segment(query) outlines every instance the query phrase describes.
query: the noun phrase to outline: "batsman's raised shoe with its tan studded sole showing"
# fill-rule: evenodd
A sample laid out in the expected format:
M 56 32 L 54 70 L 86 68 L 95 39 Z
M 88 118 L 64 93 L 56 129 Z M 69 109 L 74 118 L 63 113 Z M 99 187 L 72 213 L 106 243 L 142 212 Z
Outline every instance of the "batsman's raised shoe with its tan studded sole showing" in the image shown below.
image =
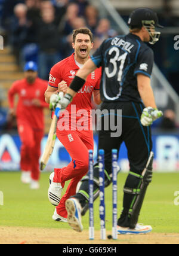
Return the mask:
M 78 199 L 70 198 L 65 202 L 67 211 L 67 222 L 77 232 L 82 232 L 83 226 L 81 223 L 81 205 Z

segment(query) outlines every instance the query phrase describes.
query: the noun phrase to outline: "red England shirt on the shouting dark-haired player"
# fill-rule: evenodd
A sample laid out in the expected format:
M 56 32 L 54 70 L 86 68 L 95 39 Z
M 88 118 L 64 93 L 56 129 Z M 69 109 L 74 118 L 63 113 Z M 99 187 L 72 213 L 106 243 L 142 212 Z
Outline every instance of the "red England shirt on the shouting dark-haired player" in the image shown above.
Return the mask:
M 48 85 L 58 89 L 58 84 L 61 81 L 66 81 L 67 86 L 70 86 L 73 78 L 79 70 L 79 66 L 75 63 L 74 58 L 75 53 L 67 57 L 64 60 L 61 60 L 53 66 L 50 71 L 50 78 Z M 72 103 L 67 106 L 66 110 L 69 111 L 69 120 L 71 124 L 76 124 L 76 121 L 81 118 L 80 111 L 85 109 L 88 113 L 88 118 L 90 117 L 91 111 L 91 97 L 93 90 L 100 90 L 100 81 L 101 81 L 101 68 L 95 69 L 87 77 L 87 81 L 82 87 L 81 90 L 73 97 Z M 84 114 L 84 113 L 83 113 Z M 63 115 L 63 114 L 62 114 Z M 79 115 L 79 116 L 78 116 Z M 61 115 L 60 115 L 61 117 Z

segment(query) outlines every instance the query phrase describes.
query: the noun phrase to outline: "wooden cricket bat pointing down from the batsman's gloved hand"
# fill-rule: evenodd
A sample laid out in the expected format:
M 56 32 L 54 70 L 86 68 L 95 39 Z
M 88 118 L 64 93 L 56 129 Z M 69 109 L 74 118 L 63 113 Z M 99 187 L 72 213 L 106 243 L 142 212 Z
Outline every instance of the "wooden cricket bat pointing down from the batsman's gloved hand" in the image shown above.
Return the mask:
M 61 110 L 61 105 L 58 103 L 57 107 L 55 108 L 53 120 L 51 121 L 51 126 L 48 133 L 48 138 L 47 138 L 47 144 L 45 145 L 44 153 L 42 154 L 42 157 L 41 157 L 41 161 L 40 161 L 41 170 L 45 169 L 45 166 L 47 165 L 48 160 L 50 159 L 50 156 L 54 150 L 55 139 L 57 137 L 57 132 L 56 132 L 57 122 L 60 116 L 60 110 Z

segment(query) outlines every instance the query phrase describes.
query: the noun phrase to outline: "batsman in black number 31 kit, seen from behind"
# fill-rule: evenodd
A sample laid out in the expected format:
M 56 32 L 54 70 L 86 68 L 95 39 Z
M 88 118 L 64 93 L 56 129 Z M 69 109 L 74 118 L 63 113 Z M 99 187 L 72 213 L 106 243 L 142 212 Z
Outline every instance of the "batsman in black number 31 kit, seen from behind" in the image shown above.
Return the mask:
M 152 139 L 150 124 L 162 116 L 156 108 L 150 76 L 153 68 L 153 51 L 145 44 L 155 44 L 160 32 L 156 32 L 158 17 L 148 8 L 134 10 L 128 21 L 128 35 L 106 39 L 76 74 L 70 89 L 60 103 L 63 108 L 85 83 L 87 75 L 102 66 L 101 110 L 122 109 L 122 134 L 111 136 L 112 130 L 99 132 L 98 149 L 104 150 L 105 184 L 112 181 L 112 149 L 119 149 L 125 142 L 128 150 L 129 175 L 124 185 L 124 202 L 118 220 L 118 233 L 149 233 L 152 227 L 139 225 L 138 217 L 147 186 L 152 181 Z M 101 117 L 104 119 L 104 117 Z M 109 118 L 110 120 L 110 118 Z M 115 123 L 116 120 L 115 120 Z M 109 126 L 110 127 L 110 126 Z M 98 164 L 94 166 L 94 199 L 99 194 Z M 81 215 L 88 209 L 88 176 L 82 179 L 78 193 L 66 201 L 67 221 L 75 230 L 82 231 Z M 77 228 L 76 228 L 77 227 Z

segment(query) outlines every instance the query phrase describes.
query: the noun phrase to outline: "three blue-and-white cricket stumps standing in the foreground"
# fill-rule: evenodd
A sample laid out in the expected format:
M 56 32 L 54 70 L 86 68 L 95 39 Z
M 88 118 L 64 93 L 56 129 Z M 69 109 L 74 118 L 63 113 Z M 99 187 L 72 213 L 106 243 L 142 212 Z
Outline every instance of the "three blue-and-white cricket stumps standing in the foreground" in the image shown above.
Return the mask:
M 104 150 L 98 151 L 99 160 L 99 187 L 100 187 L 100 225 L 101 225 L 101 240 L 106 240 L 106 224 L 105 224 L 105 197 L 104 197 Z M 113 206 L 112 206 L 112 238 L 118 239 L 117 230 L 117 194 L 118 194 L 118 150 L 112 150 L 112 194 L 113 194 Z M 89 238 L 94 239 L 94 199 L 93 199 L 93 151 L 89 151 L 89 213 L 90 213 L 90 227 Z

